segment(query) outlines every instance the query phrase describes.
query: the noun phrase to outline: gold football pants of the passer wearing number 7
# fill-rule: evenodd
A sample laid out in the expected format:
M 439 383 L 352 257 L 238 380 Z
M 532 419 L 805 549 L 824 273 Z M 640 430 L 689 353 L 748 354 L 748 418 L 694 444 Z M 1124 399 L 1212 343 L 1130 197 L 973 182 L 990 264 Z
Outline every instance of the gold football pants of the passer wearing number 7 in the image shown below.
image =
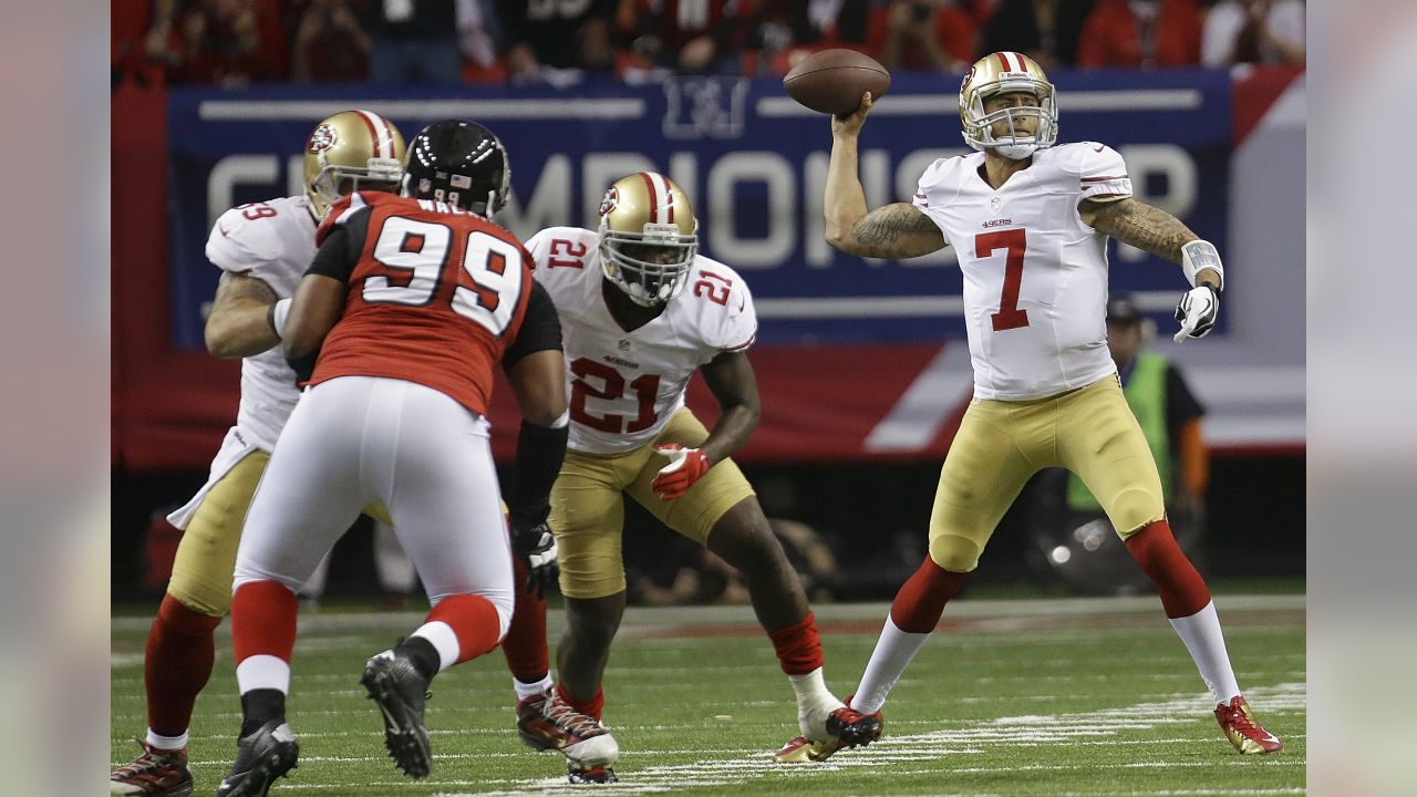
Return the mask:
M 1161 476 L 1115 376 L 1032 401 L 969 404 L 939 471 L 930 557 L 968 573 L 1024 482 L 1067 468 L 1122 539 L 1165 516 Z

